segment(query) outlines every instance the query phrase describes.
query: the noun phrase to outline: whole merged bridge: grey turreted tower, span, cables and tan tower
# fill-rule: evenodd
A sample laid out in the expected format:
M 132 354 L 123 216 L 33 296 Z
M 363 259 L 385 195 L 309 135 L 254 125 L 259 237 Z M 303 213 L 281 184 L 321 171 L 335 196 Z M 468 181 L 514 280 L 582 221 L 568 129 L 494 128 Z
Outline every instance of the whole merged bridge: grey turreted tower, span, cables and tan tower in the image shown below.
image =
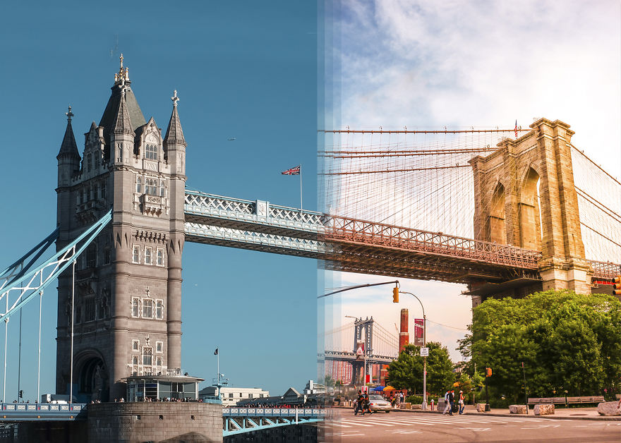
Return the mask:
M 562 121 L 538 119 L 495 145 L 490 134 L 502 130 L 482 141 L 464 139 L 476 131 L 444 131 L 443 140 L 455 137 L 444 144 L 404 138 L 428 131 L 362 131 L 359 143 L 356 131 L 332 131 L 340 141 L 320 152 L 322 207 L 330 210 L 315 212 L 186 188 L 192 150 L 176 92 L 171 100 L 164 132 L 145 119 L 121 65 L 81 154 L 67 112 L 56 157 L 56 249 L 75 246 L 109 210 L 111 222 L 58 279 L 58 393 L 73 384 L 83 399 L 107 400 L 124 396 L 124 377 L 181 368 L 186 241 L 315 258 L 325 269 L 454 281 L 469 285 L 474 304 L 541 289 L 600 291 L 621 273 L 621 184 L 571 144 Z M 386 135 L 401 138 L 364 138 Z M 3 290 L 7 309 L 22 305 Z M 325 358 L 353 359 L 349 353 L 327 349 Z M 384 363 L 392 354 L 370 357 Z

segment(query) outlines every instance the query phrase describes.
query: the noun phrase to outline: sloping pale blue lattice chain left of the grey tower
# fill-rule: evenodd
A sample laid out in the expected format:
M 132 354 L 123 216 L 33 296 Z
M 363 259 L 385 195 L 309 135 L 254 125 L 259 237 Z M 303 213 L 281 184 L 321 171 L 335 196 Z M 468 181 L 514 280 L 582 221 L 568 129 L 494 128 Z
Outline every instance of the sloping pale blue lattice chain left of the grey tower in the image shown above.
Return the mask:
M 0 280 L 0 320 L 7 322 L 11 315 L 35 298 L 37 293 L 42 293 L 56 277 L 59 277 L 61 272 L 71 265 L 71 262 L 76 260 L 78 255 L 83 253 L 111 219 L 112 212 L 109 211 L 76 240 L 35 267 L 37 259 L 56 240 L 58 236 L 58 230 L 56 230 L 20 260 L 5 269 L 0 275 L 2 279 Z

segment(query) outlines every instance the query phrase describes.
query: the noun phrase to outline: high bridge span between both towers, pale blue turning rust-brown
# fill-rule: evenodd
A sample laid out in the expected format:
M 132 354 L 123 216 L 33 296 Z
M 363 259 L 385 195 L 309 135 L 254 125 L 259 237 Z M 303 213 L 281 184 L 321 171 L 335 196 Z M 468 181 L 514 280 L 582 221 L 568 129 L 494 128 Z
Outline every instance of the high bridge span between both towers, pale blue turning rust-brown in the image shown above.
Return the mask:
M 324 260 L 325 269 L 423 280 L 540 280 L 536 250 L 186 190 L 186 241 Z M 593 280 L 621 265 L 590 261 Z

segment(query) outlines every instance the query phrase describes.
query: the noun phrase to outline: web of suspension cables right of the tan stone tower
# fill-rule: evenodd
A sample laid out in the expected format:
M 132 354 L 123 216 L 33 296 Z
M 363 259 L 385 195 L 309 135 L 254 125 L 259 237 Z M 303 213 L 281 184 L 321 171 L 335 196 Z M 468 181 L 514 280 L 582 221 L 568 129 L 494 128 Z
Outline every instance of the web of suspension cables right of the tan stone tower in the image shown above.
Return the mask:
M 572 147 L 584 253 L 589 260 L 621 263 L 621 183 Z

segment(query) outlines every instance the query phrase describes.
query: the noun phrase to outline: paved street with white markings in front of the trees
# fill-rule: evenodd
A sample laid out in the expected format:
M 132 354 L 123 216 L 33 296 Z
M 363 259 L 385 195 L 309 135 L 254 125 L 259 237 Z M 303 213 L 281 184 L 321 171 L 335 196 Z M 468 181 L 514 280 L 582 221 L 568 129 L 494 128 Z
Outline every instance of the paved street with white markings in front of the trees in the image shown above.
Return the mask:
M 333 411 L 322 442 L 621 442 L 620 421 Z

